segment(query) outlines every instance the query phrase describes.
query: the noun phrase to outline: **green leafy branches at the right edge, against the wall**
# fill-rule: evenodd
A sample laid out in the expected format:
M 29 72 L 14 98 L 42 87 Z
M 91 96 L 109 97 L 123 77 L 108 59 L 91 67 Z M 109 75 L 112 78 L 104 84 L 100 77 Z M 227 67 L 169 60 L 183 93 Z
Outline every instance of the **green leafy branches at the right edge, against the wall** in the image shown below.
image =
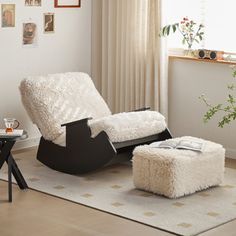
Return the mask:
M 234 78 L 236 78 L 236 67 L 233 66 L 232 69 L 233 69 L 232 75 Z M 212 105 L 207 101 L 205 95 L 201 95 L 199 97 L 209 108 L 203 118 L 205 123 L 211 120 L 211 118 L 219 112 L 223 113 L 223 117 L 218 122 L 218 127 L 223 128 L 226 124 L 229 124 L 231 121 L 236 119 L 236 95 L 233 94 L 233 92 L 235 92 L 236 89 L 236 84 L 230 84 L 228 85 L 227 88 L 229 91 L 229 95 L 226 99 L 226 104 Z

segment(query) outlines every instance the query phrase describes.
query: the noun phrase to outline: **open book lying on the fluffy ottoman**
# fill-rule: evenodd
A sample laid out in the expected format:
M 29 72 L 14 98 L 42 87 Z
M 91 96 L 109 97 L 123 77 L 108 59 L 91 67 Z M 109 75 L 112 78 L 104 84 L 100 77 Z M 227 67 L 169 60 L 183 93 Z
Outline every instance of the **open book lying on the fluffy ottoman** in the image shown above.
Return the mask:
M 163 142 L 152 143 L 150 144 L 150 146 L 154 148 L 186 149 L 186 150 L 202 152 L 203 143 L 188 139 L 182 139 L 180 141 L 169 139 Z

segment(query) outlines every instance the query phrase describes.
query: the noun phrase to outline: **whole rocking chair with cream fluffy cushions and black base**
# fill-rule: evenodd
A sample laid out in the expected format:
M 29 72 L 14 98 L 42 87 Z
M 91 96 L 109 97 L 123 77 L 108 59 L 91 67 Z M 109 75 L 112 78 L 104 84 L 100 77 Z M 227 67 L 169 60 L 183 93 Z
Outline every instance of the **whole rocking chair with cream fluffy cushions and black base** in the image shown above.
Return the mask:
M 85 73 L 28 77 L 24 107 L 39 128 L 37 159 L 70 174 L 130 159 L 135 146 L 171 138 L 165 118 L 146 108 L 112 115 Z

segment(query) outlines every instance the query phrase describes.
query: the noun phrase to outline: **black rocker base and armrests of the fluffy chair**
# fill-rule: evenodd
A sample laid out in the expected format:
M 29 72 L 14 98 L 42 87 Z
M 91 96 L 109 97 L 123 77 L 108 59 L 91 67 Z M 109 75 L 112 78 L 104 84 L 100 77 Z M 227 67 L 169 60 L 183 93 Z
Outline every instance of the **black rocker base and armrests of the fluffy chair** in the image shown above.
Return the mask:
M 91 137 L 88 119 L 68 123 L 66 146 L 41 137 L 37 159 L 46 166 L 68 174 L 83 174 L 121 160 L 132 158 L 135 146 L 172 138 L 168 129 L 162 133 L 126 142 L 112 143 L 103 131 Z

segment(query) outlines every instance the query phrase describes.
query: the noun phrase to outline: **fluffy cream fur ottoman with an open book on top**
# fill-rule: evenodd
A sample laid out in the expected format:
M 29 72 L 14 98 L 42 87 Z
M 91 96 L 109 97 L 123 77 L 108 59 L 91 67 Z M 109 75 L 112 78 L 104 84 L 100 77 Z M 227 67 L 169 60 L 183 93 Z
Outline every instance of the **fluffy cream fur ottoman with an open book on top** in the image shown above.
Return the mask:
M 136 188 L 177 198 L 222 183 L 225 149 L 194 137 L 176 138 L 202 142 L 202 152 L 138 146 L 133 152 Z

